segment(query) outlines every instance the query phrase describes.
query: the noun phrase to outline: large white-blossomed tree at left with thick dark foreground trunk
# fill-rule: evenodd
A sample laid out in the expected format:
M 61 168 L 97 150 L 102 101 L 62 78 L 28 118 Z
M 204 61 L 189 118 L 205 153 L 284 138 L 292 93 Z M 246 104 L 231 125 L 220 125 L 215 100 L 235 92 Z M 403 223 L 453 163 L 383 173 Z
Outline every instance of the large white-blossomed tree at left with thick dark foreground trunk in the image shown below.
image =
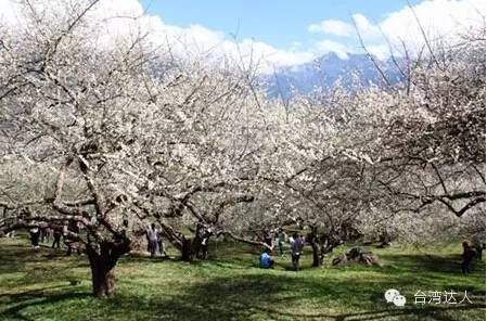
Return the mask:
M 91 14 L 98 2 L 60 1 L 41 14 L 25 1 L 23 26 L 1 26 L 0 227 L 62 230 L 86 248 L 103 297 L 151 222 L 188 259 L 201 235 L 182 227 L 225 231 L 221 211 L 254 198 L 268 131 L 255 69 L 177 57 L 137 20 L 133 35 L 108 46 Z

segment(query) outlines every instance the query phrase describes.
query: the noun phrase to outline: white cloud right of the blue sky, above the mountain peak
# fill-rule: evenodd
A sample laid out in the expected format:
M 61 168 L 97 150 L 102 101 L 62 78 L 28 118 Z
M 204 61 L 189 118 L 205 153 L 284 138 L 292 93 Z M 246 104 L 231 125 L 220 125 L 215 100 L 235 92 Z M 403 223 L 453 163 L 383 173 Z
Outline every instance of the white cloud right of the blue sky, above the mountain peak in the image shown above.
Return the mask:
M 344 21 L 323 21 L 310 25 L 308 31 L 348 37 L 349 39 L 344 42 L 349 47 L 351 41 L 357 40 L 355 33 L 357 29 L 371 53 L 379 57 L 387 57 L 390 54 L 387 41 L 395 53 L 401 52 L 402 42 L 411 51 L 424 44 L 424 37 L 414 14 L 428 41 L 434 46 L 436 40 L 454 42 L 460 39 L 461 34 L 467 34 L 471 28 L 482 26 L 486 7 L 484 0 L 424 0 L 412 7 L 412 10 L 406 5 L 399 11 L 392 12 L 379 23 L 373 23 L 364 15 L 356 13 L 350 24 Z M 339 48 L 338 44 L 330 43 L 329 40 L 325 40 L 325 44 L 322 42 L 318 46 Z

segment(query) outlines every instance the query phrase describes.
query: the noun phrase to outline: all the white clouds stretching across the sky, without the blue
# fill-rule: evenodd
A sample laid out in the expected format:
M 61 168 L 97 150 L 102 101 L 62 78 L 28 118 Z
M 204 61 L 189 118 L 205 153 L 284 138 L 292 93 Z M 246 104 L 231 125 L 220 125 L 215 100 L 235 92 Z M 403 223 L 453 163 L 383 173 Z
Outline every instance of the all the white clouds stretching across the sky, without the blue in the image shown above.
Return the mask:
M 0 22 L 16 28 L 28 30 L 31 24 L 24 18 L 25 12 L 16 4 L 17 0 L 0 0 Z M 55 24 L 66 3 L 78 3 L 82 0 L 36 0 L 31 1 L 39 10 L 42 18 L 51 18 Z M 482 23 L 477 11 L 485 14 L 483 0 L 425 0 L 413 7 L 424 30 L 431 38 L 454 38 L 458 31 L 466 31 L 470 27 Z M 399 47 L 400 41 L 408 46 L 420 46 L 421 31 L 414 15 L 407 7 L 389 13 L 379 23 L 371 22 L 360 13 L 353 15 L 353 21 L 362 36 L 368 49 L 381 59 L 389 55 L 386 39 L 392 46 Z M 156 15 L 144 13 L 138 0 L 101 0 L 92 10 L 82 31 L 98 35 L 97 46 L 113 46 L 130 36 L 150 31 L 148 40 L 153 46 L 170 47 L 181 56 L 201 56 L 213 61 L 252 62 L 260 64 L 261 72 L 271 72 L 273 67 L 291 66 L 312 61 L 317 55 L 335 52 L 345 59 L 347 53 L 360 51 L 353 23 L 338 20 L 325 20 L 308 26 L 308 31 L 343 37 L 343 41 L 321 39 L 308 48 L 294 43 L 289 49 L 279 49 L 266 42 L 252 39 L 234 41 L 226 34 L 208 29 L 201 25 L 179 27 L 163 22 Z

